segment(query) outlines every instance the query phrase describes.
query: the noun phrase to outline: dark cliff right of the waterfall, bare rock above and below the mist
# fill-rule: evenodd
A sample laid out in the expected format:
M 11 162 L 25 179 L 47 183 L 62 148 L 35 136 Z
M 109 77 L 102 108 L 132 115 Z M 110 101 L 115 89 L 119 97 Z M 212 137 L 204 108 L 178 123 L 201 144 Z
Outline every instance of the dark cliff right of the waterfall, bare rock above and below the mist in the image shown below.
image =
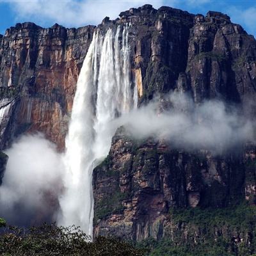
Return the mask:
M 245 103 L 255 99 L 256 42 L 227 15 L 209 12 L 204 17 L 143 6 L 120 17 L 132 24 L 139 105 L 153 95 L 179 90 L 191 94 L 197 104 L 222 99 L 254 116 Z M 196 237 L 206 241 L 210 236 L 228 244 L 236 241 L 234 247 L 248 246 L 255 237 L 253 227 L 186 227 L 186 221 L 173 221 L 177 215 L 172 209 L 225 209 L 244 200 L 255 204 L 255 172 L 253 143 L 214 156 L 209 150 L 172 148 L 164 141 L 134 141 L 121 129 L 108 157 L 93 172 L 94 236 L 113 234 L 136 241 L 169 237 L 173 243 L 193 244 Z M 236 255 L 243 255 L 239 250 Z

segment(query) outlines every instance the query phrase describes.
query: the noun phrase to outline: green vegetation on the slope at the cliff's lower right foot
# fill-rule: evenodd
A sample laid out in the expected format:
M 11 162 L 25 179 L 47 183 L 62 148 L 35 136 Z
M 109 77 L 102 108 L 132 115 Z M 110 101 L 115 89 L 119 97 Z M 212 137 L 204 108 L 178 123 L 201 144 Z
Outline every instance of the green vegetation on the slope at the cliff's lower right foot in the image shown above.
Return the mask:
M 143 241 L 138 248 L 148 248 L 148 256 L 255 255 L 255 205 L 243 203 L 223 209 L 172 209 L 170 218 L 176 227 L 174 239 L 166 236 L 160 241 Z M 184 237 L 184 232 L 188 237 Z M 233 238 L 237 234 L 243 236 L 239 243 Z M 250 246 L 246 243 L 245 237 L 248 236 L 253 237 Z

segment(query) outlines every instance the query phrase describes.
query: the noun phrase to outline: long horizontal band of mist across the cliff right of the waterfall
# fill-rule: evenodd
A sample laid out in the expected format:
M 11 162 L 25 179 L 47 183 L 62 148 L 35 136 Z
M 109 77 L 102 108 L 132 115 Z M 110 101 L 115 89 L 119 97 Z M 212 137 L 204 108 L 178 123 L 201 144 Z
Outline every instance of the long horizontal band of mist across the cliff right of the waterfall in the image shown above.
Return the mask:
M 255 122 L 241 108 L 226 106 L 221 100 L 207 100 L 197 105 L 191 97 L 178 92 L 134 109 L 112 125 L 114 129 L 124 125 L 137 139 L 164 139 L 172 147 L 207 149 L 212 154 L 255 141 Z

